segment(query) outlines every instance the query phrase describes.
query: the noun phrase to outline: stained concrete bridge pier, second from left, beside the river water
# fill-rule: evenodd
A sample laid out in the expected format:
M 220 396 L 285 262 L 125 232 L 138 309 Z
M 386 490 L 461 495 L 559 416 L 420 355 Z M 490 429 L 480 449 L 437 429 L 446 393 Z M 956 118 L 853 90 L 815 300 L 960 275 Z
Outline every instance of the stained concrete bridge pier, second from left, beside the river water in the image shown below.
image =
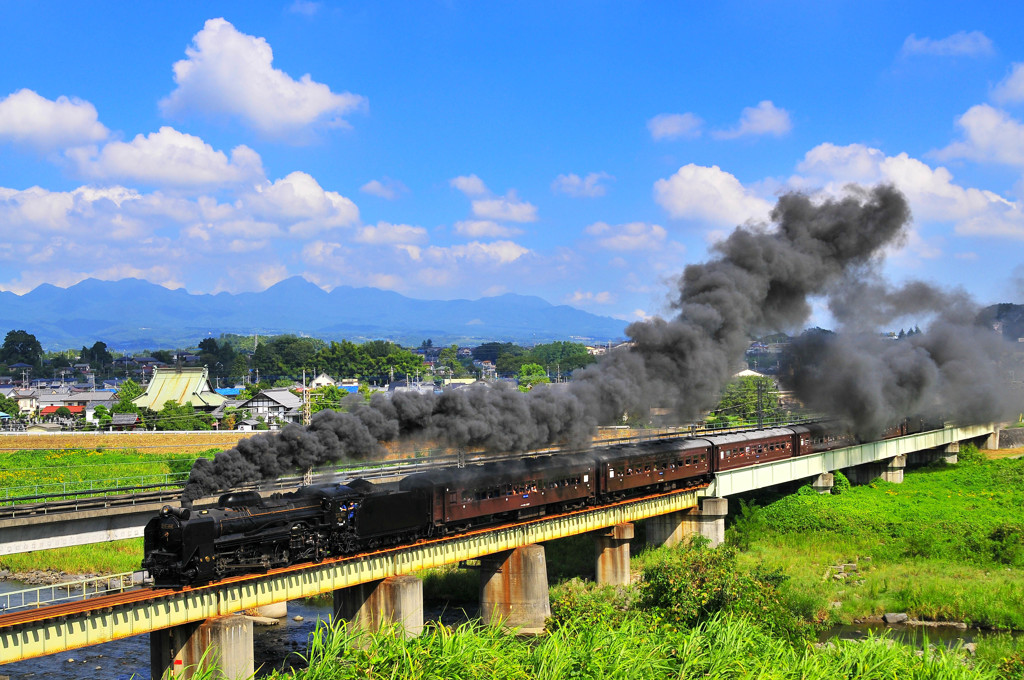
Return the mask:
M 398 624 L 414 638 L 423 632 L 423 582 L 407 573 L 336 590 L 334 618 L 372 632 Z

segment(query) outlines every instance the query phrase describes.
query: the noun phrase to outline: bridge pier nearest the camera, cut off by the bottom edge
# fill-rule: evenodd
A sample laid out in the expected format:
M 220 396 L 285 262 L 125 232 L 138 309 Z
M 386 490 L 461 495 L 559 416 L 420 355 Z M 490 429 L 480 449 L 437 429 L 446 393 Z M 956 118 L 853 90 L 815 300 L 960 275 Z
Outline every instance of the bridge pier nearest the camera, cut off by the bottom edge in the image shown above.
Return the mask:
M 186 680 L 211 666 L 215 677 L 244 680 L 255 673 L 253 624 L 247 617 L 221 617 L 150 633 L 154 680 Z

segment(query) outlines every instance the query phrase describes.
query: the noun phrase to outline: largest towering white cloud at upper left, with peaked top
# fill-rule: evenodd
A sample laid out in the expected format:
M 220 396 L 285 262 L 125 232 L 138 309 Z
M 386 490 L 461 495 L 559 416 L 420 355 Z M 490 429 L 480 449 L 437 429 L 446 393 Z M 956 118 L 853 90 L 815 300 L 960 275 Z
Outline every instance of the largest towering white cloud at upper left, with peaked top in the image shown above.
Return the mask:
M 343 116 L 365 108 L 365 97 L 332 92 L 306 74 L 299 80 L 274 69 L 263 38 L 240 33 L 223 18 L 209 19 L 175 62 L 177 89 L 161 100 L 165 116 L 191 113 L 238 117 L 270 135 L 314 124 L 348 127 Z

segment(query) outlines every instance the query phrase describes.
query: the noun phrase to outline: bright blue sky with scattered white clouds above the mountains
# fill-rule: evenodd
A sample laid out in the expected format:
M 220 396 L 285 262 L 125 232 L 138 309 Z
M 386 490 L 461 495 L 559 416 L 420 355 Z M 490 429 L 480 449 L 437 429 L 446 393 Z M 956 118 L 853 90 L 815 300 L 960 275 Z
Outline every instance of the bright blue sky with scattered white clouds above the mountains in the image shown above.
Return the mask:
M 302 275 L 634 320 L 779 193 L 891 181 L 891 278 L 1024 302 L 1011 3 L 2 7 L 0 290 Z

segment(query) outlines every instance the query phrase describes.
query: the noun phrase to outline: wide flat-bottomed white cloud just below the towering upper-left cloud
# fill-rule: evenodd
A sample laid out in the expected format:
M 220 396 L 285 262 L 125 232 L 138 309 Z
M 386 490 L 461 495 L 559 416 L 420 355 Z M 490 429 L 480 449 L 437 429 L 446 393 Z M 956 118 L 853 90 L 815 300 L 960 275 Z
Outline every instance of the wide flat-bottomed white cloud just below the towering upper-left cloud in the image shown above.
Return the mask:
M 263 178 L 259 154 L 246 145 L 223 152 L 199 137 L 162 127 L 159 132 L 136 135 L 129 142 L 112 141 L 98 154 L 80 147 L 68 152 L 79 172 L 92 179 L 130 179 L 177 187 L 212 187 L 256 182 Z

